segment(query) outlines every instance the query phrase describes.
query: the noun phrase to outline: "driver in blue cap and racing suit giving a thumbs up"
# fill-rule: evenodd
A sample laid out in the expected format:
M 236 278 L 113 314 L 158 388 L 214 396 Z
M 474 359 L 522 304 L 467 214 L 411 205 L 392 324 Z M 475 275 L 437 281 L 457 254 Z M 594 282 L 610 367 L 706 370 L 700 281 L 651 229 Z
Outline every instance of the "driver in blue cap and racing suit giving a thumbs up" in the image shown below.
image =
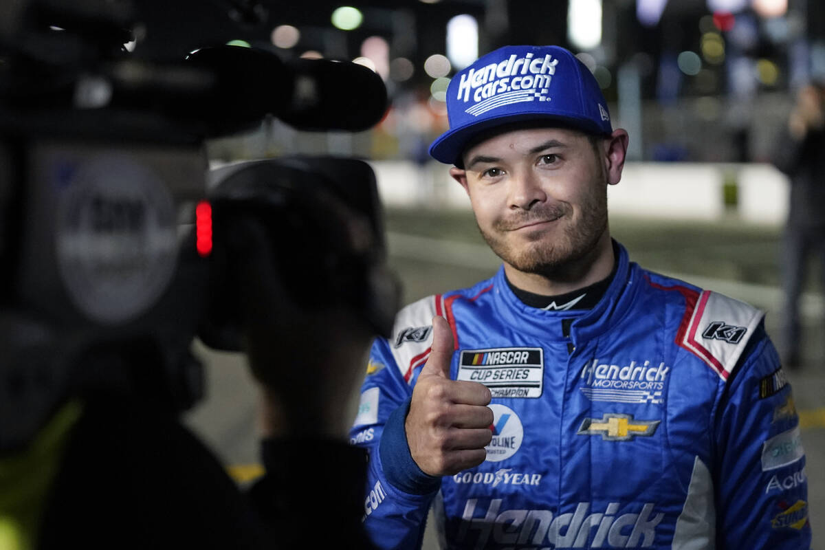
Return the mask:
M 799 419 L 757 309 L 611 241 L 628 136 L 565 49 L 457 74 L 431 146 L 502 269 L 404 308 L 351 440 L 365 527 L 416 548 L 809 548 Z

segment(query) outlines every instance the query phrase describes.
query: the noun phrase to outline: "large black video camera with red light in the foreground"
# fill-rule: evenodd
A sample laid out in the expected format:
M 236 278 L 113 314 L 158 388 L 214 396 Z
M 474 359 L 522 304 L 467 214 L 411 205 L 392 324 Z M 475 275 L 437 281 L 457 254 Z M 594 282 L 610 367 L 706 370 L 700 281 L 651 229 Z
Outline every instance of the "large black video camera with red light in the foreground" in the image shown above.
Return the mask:
M 274 54 L 229 46 L 181 63 L 136 63 L 112 44 L 128 35 L 129 17 L 106 20 L 92 4 L 17 2 L 0 26 L 0 452 L 25 445 L 74 397 L 128 393 L 172 413 L 191 407 L 203 393 L 193 338 L 242 348 L 243 313 L 225 274 L 225 236 L 238 217 L 262 220 L 299 302 L 313 280 L 334 284 L 379 333 L 398 305 L 365 162 L 276 159 L 209 173 L 208 137 L 272 113 L 318 129 L 323 101 L 295 96 L 312 71 L 296 76 Z M 78 32 L 45 30 L 50 21 Z M 110 32 L 87 39 L 92 27 Z M 245 105 L 233 117 L 238 98 L 225 81 L 247 62 L 282 68 L 268 82 L 287 89 L 272 94 L 274 105 Z M 353 70 L 384 90 L 367 69 Z M 315 98 L 341 95 L 310 82 Z M 364 128 L 378 120 L 347 117 L 342 124 Z M 205 200 L 211 216 L 196 225 Z M 305 242 L 296 244 L 298 234 Z M 314 279 L 293 276 L 305 267 Z

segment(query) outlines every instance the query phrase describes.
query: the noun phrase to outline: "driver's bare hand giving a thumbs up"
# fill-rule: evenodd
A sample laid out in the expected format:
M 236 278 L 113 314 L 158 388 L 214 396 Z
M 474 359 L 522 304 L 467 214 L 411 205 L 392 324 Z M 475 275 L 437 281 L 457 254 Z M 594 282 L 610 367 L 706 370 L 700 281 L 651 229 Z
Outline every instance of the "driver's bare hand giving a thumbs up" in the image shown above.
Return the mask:
M 432 350 L 418 375 L 404 428 L 413 460 L 431 476 L 483 463 L 493 438 L 490 390 L 450 379 L 453 336 L 444 317 L 433 317 Z

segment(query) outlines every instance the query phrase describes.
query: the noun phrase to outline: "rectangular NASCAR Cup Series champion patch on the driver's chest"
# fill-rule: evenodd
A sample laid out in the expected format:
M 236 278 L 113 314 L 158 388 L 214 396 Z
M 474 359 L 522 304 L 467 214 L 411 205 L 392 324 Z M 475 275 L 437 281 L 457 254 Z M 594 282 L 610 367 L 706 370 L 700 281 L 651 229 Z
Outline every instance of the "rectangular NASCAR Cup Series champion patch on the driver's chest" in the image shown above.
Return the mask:
M 461 350 L 456 379 L 483 383 L 493 397 L 540 397 L 544 354 L 541 348 Z

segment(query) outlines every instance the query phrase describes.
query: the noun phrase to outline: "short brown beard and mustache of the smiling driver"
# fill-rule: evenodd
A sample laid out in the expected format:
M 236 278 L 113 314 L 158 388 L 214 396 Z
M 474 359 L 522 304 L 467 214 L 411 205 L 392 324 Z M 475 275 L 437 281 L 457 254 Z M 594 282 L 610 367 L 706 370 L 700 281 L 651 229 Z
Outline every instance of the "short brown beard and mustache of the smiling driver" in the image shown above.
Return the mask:
M 606 186 L 598 189 L 582 203 L 581 217 L 575 223 L 570 217 L 573 211 L 570 204 L 556 203 L 521 210 L 519 215 L 497 219 L 490 233 L 480 226 L 479 231 L 493 252 L 516 270 L 558 277 L 592 253 L 607 230 L 607 189 Z M 533 221 L 553 219 L 559 220 L 553 223 L 565 225 L 562 234 L 552 241 L 544 232 L 537 231 L 529 237 L 530 242 L 520 243 L 516 247 L 507 243 L 506 237 L 510 229 Z

